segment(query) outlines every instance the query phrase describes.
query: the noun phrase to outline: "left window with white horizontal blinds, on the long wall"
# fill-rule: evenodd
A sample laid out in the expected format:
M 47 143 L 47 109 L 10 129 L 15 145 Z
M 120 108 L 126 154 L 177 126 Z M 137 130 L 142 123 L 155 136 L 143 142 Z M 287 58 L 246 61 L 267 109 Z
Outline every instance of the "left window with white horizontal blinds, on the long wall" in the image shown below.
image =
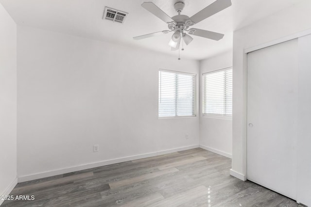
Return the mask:
M 159 70 L 159 117 L 195 116 L 196 75 Z

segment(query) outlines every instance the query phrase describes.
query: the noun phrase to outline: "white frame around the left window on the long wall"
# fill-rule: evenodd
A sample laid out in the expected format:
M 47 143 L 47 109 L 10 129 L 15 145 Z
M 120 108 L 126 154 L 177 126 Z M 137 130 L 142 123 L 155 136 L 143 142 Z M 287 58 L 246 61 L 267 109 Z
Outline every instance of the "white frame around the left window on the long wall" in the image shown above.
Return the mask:
M 169 73 L 175 73 L 175 74 L 183 74 L 183 75 L 190 75 L 190 76 L 194 76 L 194 80 L 195 80 L 195 83 L 194 83 L 194 108 L 193 108 L 193 115 L 188 115 L 188 116 L 178 116 L 176 114 L 176 116 L 159 116 L 159 97 L 160 97 L 160 82 L 158 81 L 158 100 L 157 100 L 157 117 L 158 119 L 171 119 L 171 118 L 191 118 L 191 117 L 196 117 L 197 116 L 197 74 L 196 73 L 189 73 L 189 72 L 182 72 L 182 71 L 176 71 L 176 70 L 167 70 L 167 69 L 159 69 L 158 70 L 158 80 L 160 80 L 160 77 L 159 77 L 159 72 L 160 71 L 163 71 L 163 72 L 169 72 Z

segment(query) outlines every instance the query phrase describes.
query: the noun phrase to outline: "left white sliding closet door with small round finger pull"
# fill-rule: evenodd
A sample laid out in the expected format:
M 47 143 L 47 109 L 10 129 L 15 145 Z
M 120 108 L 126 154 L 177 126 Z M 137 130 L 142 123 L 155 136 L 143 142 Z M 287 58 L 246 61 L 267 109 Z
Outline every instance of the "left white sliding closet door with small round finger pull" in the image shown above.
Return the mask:
M 248 53 L 247 179 L 296 200 L 297 39 Z

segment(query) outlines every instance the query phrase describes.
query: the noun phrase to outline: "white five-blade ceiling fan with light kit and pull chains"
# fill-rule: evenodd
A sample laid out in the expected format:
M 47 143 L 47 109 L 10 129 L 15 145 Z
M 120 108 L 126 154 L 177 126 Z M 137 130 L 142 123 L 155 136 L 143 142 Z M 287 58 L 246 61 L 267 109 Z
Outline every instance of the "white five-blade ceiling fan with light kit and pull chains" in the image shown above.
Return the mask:
M 179 49 L 180 43 L 185 42 L 186 45 L 189 45 L 193 38 L 189 35 L 200 36 L 212 40 L 220 40 L 224 37 L 224 34 L 211 32 L 196 28 L 190 28 L 194 24 L 206 19 L 209 16 L 212 16 L 225 8 L 231 6 L 231 0 L 216 0 L 215 2 L 211 3 L 195 15 L 189 17 L 186 15 L 181 15 L 180 13 L 185 7 L 184 2 L 177 2 L 174 4 L 174 9 L 178 12 L 178 15 L 170 17 L 165 12 L 163 12 L 159 7 L 157 7 L 153 2 L 144 2 L 141 4 L 143 8 L 163 20 L 165 23 L 168 24 L 169 30 L 164 30 L 160 32 L 154 32 L 150 34 L 145 34 L 141 36 L 133 37 L 135 40 L 140 40 L 148 37 L 153 37 L 159 34 L 167 34 L 169 32 L 174 32 L 172 38 L 169 42 L 169 46 L 171 46 L 171 50 Z M 189 29 L 190 28 L 190 29 Z M 186 33 L 188 32 L 188 34 Z M 182 48 L 184 50 L 184 48 Z M 178 57 L 178 60 L 180 58 Z

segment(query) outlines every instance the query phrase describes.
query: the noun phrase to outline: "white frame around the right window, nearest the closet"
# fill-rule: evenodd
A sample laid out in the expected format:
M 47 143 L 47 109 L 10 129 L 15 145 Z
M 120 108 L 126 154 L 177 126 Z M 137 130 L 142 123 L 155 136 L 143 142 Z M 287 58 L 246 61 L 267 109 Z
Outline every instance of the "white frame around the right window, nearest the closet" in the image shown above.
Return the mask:
M 204 97 L 205 97 L 205 90 L 204 90 L 204 84 L 205 84 L 205 81 L 204 81 L 204 76 L 207 75 L 207 74 L 213 74 L 213 73 L 217 73 L 217 72 L 221 72 L 221 71 L 225 71 L 225 70 L 232 70 L 233 72 L 233 67 L 230 66 L 230 67 L 225 67 L 225 68 L 222 68 L 222 69 L 217 69 L 217 70 L 212 70 L 212 71 L 208 71 L 206 73 L 202 73 L 202 117 L 205 117 L 205 118 L 216 118 L 216 119 L 225 119 L 225 120 L 232 120 L 232 114 L 217 114 L 217 113 L 204 113 Z M 233 83 L 233 77 L 232 77 L 232 83 Z M 232 103 L 233 104 L 233 103 Z

